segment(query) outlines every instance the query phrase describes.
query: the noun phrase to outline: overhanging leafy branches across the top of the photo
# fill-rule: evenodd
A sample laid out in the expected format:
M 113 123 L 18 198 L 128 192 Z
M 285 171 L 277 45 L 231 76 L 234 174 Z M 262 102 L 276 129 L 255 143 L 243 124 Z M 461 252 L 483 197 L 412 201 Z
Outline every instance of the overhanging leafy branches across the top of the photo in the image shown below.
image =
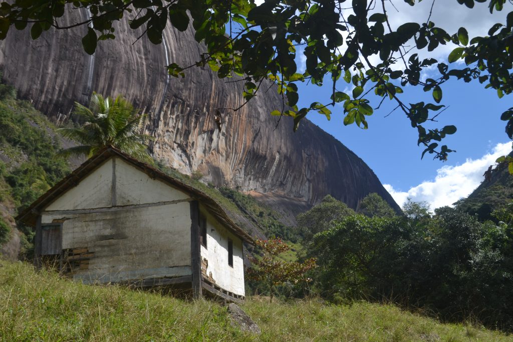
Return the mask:
M 403 1 L 416 5 L 415 0 Z M 457 1 L 469 8 L 476 2 L 486 2 L 490 12 L 511 9 L 506 0 L 445 1 Z M 206 45 L 207 53 L 191 66 L 171 63 L 167 66 L 171 75 L 183 76 L 184 69 L 205 65 L 219 77 L 242 75 L 246 77 L 247 100 L 257 94 L 264 79 L 270 79 L 278 85 L 283 98 L 283 106 L 271 114 L 292 116 L 294 129 L 310 111 L 329 119 L 329 108 L 337 108 L 337 103 L 343 104 L 345 125 L 356 124 L 365 129 L 367 117 L 374 110 L 368 96 L 374 93 L 382 101 L 389 98 L 397 103 L 396 109 L 404 112 L 418 130 L 418 144 L 425 147 L 423 156 L 430 153 L 445 160 L 451 150 L 446 145 L 439 146 L 439 142 L 455 133 L 456 127 L 425 126 L 443 110 L 439 104 L 442 85 L 451 78 L 464 82 L 477 79 L 485 87 L 496 89 L 499 97 L 513 91 L 513 12 L 509 12 L 505 23 L 492 26 L 487 36 L 469 37 L 464 27 L 446 32 L 430 20 L 430 13 L 426 13 L 425 22 L 404 22 L 394 28 L 387 13 L 390 6 L 393 4 L 385 0 L 266 0 L 259 6 L 253 0 L 15 0 L 0 6 L 0 39 L 12 26 L 30 28 L 36 39 L 52 27 L 89 25 L 82 44 L 92 54 L 98 41 L 115 38 L 114 23 L 125 16 L 132 29 L 143 27 L 154 44 L 162 42 L 162 31 L 168 24 L 180 31 L 192 26 L 196 41 Z M 87 8 L 90 17 L 82 23 L 63 26 L 60 18 L 67 8 Z M 449 67 L 443 61 L 419 55 L 448 42 L 457 45 L 448 62 L 461 59 L 463 64 Z M 303 73 L 298 72 L 296 63 L 298 46 L 306 58 Z M 424 80 L 423 70 L 432 66 L 439 74 Z M 319 86 L 331 83 L 329 99 L 298 108 L 298 82 Z M 352 84 L 352 92 L 342 91 L 346 83 Z M 431 92 L 434 103 L 403 102 L 401 93 L 406 85 Z M 506 133 L 513 138 L 513 108 L 504 112 L 501 119 L 507 122 Z

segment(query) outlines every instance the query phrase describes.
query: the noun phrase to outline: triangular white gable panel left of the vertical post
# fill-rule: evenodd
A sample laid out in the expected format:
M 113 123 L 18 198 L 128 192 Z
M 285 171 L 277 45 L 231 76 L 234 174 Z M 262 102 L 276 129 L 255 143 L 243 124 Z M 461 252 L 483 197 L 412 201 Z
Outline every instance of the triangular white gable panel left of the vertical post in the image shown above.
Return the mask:
M 45 210 L 104 208 L 112 205 L 112 159 L 96 168 Z

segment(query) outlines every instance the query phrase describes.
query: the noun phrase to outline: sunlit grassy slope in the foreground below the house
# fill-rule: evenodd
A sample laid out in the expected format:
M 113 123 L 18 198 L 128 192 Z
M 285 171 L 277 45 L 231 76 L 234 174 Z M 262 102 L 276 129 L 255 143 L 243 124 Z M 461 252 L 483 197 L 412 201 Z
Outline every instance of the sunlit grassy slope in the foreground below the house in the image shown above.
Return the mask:
M 230 325 L 226 308 L 117 286 L 87 286 L 0 261 L 1 341 L 506 341 L 471 325 L 440 324 L 390 305 L 246 301 L 262 335 Z

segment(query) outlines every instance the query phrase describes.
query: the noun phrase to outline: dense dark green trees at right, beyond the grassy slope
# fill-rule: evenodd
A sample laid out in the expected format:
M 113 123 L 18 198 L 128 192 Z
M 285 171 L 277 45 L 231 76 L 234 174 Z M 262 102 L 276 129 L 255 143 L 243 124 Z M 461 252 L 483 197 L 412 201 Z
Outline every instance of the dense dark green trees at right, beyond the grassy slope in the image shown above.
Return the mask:
M 511 331 L 513 206 L 494 212 L 500 226 L 449 207 L 432 216 L 422 203 L 409 207 L 416 214 L 356 214 L 315 234 L 306 252 L 317 258 L 315 290 L 334 300 L 429 308 L 442 319 L 472 316 Z

